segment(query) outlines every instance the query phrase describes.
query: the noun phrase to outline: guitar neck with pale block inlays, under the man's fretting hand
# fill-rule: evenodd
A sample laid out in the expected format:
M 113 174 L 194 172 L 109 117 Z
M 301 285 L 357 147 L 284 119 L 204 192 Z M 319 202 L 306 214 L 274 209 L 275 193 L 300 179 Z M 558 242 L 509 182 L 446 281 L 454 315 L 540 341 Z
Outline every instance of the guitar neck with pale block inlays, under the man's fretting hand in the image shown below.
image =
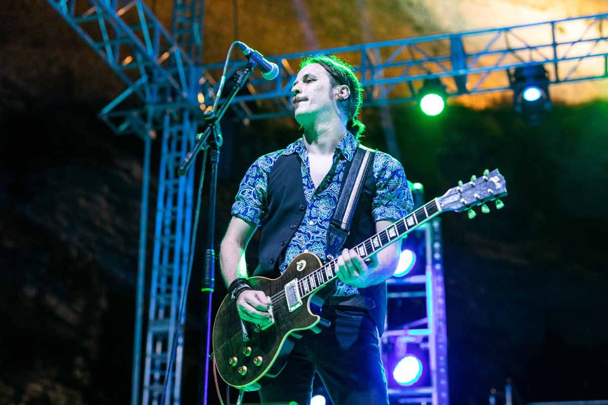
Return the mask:
M 363 259 L 367 259 L 439 214 L 441 214 L 440 202 L 439 199 L 434 199 L 406 217 L 399 219 L 388 228 L 359 243 L 353 250 L 356 250 Z M 322 267 L 299 279 L 300 296 L 304 297 L 311 294 L 336 279 L 336 268 L 337 259 L 330 260 Z

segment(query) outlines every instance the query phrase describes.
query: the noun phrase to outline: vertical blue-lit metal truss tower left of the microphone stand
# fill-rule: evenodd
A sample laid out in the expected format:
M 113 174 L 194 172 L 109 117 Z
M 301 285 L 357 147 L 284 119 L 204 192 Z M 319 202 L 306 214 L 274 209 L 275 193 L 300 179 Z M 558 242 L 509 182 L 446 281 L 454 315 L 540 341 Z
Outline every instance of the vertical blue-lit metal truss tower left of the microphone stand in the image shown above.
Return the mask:
M 176 323 L 190 252 L 194 171 L 179 177 L 177 169 L 193 148 L 196 135 L 190 113 L 182 114 L 181 117 L 174 117 L 170 112 L 164 115 L 141 402 L 146 405 L 161 402 L 167 378 L 168 403 L 180 401 L 185 314 L 178 330 Z M 168 370 L 175 333 L 179 334 L 177 356 Z

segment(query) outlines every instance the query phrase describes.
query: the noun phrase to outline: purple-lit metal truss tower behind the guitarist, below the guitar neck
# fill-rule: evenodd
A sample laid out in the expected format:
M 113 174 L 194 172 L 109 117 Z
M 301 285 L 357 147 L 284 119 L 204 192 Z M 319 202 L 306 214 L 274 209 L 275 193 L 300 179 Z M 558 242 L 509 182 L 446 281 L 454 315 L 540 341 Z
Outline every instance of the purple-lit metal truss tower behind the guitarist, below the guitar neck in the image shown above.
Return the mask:
M 414 232 L 424 235 L 423 243 L 426 255 L 424 274 L 416 274 L 402 279 L 390 278 L 387 281 L 388 299 L 424 298 L 426 299 L 426 318 L 410 322 L 404 328 L 398 330 L 386 330 L 382 335 L 382 344 L 385 345 L 392 339 L 402 337 L 406 341 L 418 342 L 420 347 L 426 345 L 429 351 L 430 383 L 426 386 L 400 387 L 398 389 L 389 386 L 390 403 L 449 405 L 441 220 L 438 218 L 431 220 Z M 409 285 L 410 288 L 402 291 L 402 288 L 398 287 L 403 285 Z M 388 315 L 391 316 L 390 313 Z M 387 356 L 390 357 L 390 354 L 387 353 Z M 386 371 L 387 373 L 392 372 L 392 370 Z

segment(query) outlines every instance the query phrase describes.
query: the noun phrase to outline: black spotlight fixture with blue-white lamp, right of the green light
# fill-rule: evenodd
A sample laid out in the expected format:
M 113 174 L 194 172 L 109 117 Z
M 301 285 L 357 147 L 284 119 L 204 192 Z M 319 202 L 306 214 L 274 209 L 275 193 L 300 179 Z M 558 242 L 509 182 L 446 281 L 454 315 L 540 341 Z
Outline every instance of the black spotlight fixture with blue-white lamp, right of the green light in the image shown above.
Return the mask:
M 549 78 L 542 64 L 516 67 L 509 71 L 513 89 L 513 107 L 531 124 L 539 124 L 545 112 L 551 109 Z

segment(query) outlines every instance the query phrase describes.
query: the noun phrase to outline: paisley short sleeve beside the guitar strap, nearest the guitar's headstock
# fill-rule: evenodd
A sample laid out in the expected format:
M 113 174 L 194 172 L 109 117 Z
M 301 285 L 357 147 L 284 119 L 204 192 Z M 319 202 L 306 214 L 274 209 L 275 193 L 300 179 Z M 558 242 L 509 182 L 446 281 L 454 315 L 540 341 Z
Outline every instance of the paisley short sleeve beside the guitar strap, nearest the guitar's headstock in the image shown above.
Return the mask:
M 374 221 L 398 220 L 409 214 L 413 209 L 412 190 L 401 163 L 388 154 L 376 152 L 373 172 L 376 179 L 376 196 L 371 202 Z

